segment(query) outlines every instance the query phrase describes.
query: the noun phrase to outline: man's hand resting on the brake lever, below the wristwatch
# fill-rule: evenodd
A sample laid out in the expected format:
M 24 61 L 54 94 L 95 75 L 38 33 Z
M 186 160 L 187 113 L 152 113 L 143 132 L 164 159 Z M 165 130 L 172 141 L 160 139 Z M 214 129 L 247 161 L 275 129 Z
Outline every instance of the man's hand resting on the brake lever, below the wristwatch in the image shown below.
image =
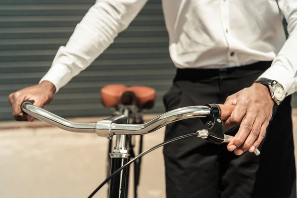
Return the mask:
M 225 104 L 236 105 L 230 118 L 226 120 L 228 128 L 240 124 L 235 137 L 227 149 L 241 155 L 245 151 L 253 152 L 265 137 L 266 128 L 272 117 L 275 102 L 265 85 L 254 83 L 236 94 L 229 96 Z

